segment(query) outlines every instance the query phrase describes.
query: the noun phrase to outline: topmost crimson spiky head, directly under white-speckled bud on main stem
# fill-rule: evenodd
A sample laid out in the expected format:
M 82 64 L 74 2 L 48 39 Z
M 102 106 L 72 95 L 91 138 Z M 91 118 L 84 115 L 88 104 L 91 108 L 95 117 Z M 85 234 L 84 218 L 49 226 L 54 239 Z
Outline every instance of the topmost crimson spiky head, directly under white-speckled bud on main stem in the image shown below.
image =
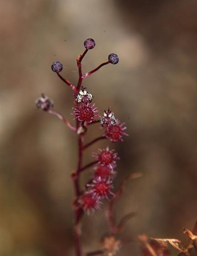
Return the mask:
M 86 121 L 88 124 L 92 123 L 93 121 L 95 121 L 96 116 L 100 116 L 97 112 L 98 109 L 94 108 L 95 104 L 91 104 L 91 103 L 82 103 L 81 105 L 78 105 L 74 108 L 74 114 L 75 118 L 79 121 L 79 122 L 83 122 Z

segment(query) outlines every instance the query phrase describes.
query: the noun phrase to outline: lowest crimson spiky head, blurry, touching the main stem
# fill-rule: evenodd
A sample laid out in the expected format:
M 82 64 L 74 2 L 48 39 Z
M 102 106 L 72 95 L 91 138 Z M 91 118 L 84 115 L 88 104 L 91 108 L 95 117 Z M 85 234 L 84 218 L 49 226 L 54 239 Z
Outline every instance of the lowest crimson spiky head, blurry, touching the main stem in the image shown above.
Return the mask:
M 101 209 L 101 202 L 99 201 L 99 197 L 95 196 L 91 192 L 85 192 L 78 199 L 78 204 L 82 207 L 84 212 L 88 214 L 94 212 L 94 210 Z

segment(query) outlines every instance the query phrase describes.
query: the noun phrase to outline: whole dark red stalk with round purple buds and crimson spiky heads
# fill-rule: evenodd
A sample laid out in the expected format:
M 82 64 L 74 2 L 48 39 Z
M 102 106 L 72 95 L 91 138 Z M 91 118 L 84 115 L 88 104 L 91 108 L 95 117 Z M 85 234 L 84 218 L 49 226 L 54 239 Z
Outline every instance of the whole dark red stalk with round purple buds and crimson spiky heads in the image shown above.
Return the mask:
M 94 212 L 94 210 L 99 210 L 102 204 L 101 200 L 103 200 L 104 198 L 110 200 L 111 196 L 115 196 L 115 194 L 112 192 L 112 189 L 114 187 L 113 181 L 116 176 L 114 168 L 116 167 L 116 160 L 119 159 L 119 157 L 117 156 L 118 154 L 114 153 L 114 150 L 109 150 L 109 147 L 106 147 L 102 150 L 99 149 L 98 153 L 93 153 L 93 157 L 95 158 L 95 160 L 92 163 L 88 163 L 87 165 L 83 166 L 82 160 L 84 150 L 101 139 L 108 139 L 110 142 L 119 142 L 123 141 L 124 135 L 127 135 L 124 132 L 124 130 L 126 129 L 126 127 L 124 127 L 124 123 L 120 123 L 120 121 L 115 118 L 114 112 L 112 112 L 109 108 L 108 110 L 104 111 L 103 116 L 98 119 L 100 115 L 98 113 L 98 109 L 95 107 L 95 104 L 92 103 L 93 95 L 89 93 L 85 87 L 82 86 L 82 82 L 84 79 L 86 79 L 88 76 L 91 76 L 94 72 L 98 71 L 104 65 L 117 64 L 119 62 L 119 57 L 117 54 L 111 53 L 108 56 L 108 61 L 100 64 L 92 71 L 82 74 L 81 62 L 85 54 L 87 54 L 88 50 L 95 47 L 94 40 L 92 38 L 88 38 L 87 40 L 85 40 L 84 47 L 84 53 L 77 57 L 79 78 L 78 84 L 76 86 L 60 75 L 60 72 L 63 71 L 63 65 L 60 61 L 53 62 L 51 66 L 52 71 L 55 72 L 57 76 L 63 82 L 65 82 L 74 92 L 74 107 L 72 115 L 74 116 L 74 120 L 76 120 L 76 125 L 72 125 L 61 114 L 53 110 L 53 102 L 45 94 L 41 94 L 41 98 L 38 98 L 36 100 L 37 108 L 41 108 L 49 114 L 56 115 L 73 132 L 75 132 L 76 136 L 78 136 L 78 166 L 76 171 L 74 171 L 71 175 L 76 196 L 73 201 L 73 206 L 75 214 L 74 232 L 77 256 L 82 255 L 78 226 L 83 216 L 83 212 L 87 212 L 89 214 L 91 212 Z M 104 129 L 104 134 L 103 136 L 95 138 L 92 142 L 84 144 L 84 136 L 88 131 L 88 126 L 94 123 L 100 123 L 101 127 Z M 82 188 L 80 184 L 80 174 L 89 167 L 93 167 L 91 182 L 88 182 L 85 188 Z M 111 226 L 113 225 L 111 224 Z

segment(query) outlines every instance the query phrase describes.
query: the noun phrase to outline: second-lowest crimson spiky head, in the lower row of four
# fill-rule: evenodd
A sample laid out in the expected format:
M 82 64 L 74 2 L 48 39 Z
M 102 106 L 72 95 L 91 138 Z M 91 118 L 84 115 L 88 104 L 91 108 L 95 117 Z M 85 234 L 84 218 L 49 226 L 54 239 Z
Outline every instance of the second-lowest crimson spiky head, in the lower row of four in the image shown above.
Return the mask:
M 108 194 L 111 194 L 114 196 L 114 193 L 111 191 L 113 188 L 112 180 L 106 180 L 102 179 L 101 177 L 97 177 L 93 180 L 92 184 L 88 184 L 88 187 L 92 187 L 90 190 L 93 195 L 99 197 L 99 198 L 108 198 Z

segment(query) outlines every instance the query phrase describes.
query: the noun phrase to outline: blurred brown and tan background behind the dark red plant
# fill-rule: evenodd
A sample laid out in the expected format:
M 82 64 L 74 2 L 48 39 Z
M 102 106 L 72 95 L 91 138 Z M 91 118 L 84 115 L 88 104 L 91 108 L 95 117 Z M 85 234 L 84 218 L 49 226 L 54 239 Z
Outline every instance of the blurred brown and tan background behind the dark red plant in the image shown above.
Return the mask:
M 73 256 L 76 137 L 57 117 L 36 110 L 41 93 L 54 109 L 73 119 L 73 93 L 51 71 L 78 80 L 76 57 L 86 38 L 96 47 L 83 72 L 119 55 L 88 77 L 83 86 L 102 110 L 111 106 L 124 121 L 124 142 L 98 142 L 119 153 L 115 188 L 127 183 L 116 217 L 138 212 L 119 236 L 171 237 L 187 242 L 182 228 L 197 220 L 197 1 L 195 0 L 1 0 L 0 254 Z M 92 125 L 85 141 L 102 135 Z M 92 170 L 82 175 L 82 184 Z M 103 211 L 83 218 L 84 251 L 98 250 L 107 231 Z M 140 255 L 130 243 L 120 255 Z

